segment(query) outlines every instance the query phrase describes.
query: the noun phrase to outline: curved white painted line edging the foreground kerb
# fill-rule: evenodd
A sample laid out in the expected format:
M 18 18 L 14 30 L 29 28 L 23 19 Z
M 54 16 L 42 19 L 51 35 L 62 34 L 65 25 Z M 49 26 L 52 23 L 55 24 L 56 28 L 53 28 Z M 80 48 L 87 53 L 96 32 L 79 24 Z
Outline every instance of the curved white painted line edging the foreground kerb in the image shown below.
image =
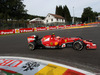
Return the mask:
M 75 71 L 84 73 L 86 75 L 95 75 L 94 73 L 91 73 L 91 72 L 88 72 L 88 71 L 85 71 L 85 70 L 81 70 L 81 69 L 78 69 L 78 68 L 74 68 L 74 67 L 71 67 L 71 66 L 67 66 L 67 65 L 60 64 L 60 63 L 47 61 L 47 60 L 36 59 L 36 58 L 15 57 L 15 56 L 14 57 L 12 57 L 12 56 L 0 56 L 0 59 L 18 59 L 18 60 L 36 61 L 36 62 L 41 62 L 41 63 L 44 63 L 44 64 L 53 64 L 53 65 L 65 67 L 65 68 L 68 68 L 68 69 L 71 69 L 71 70 L 75 70 Z

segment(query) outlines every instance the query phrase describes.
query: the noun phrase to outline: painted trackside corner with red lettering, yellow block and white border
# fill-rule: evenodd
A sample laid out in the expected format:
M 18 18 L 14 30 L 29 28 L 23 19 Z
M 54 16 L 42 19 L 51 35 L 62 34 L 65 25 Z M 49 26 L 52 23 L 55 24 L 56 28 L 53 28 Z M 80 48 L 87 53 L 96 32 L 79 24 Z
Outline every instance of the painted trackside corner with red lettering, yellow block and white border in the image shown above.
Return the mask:
M 50 61 L 0 56 L 0 75 L 94 75 L 67 65 Z

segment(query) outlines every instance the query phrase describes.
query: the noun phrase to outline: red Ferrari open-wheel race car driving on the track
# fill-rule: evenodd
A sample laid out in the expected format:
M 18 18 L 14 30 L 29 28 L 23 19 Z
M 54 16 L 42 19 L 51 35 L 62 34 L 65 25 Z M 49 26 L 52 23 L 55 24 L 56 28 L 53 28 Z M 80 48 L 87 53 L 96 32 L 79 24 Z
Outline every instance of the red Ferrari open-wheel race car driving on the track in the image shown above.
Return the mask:
M 28 48 L 35 50 L 36 48 L 65 48 L 72 47 L 75 50 L 81 51 L 83 48 L 96 49 L 96 44 L 92 40 L 83 40 L 80 37 L 59 37 L 55 35 L 46 35 L 38 38 L 37 35 L 32 35 L 28 39 Z

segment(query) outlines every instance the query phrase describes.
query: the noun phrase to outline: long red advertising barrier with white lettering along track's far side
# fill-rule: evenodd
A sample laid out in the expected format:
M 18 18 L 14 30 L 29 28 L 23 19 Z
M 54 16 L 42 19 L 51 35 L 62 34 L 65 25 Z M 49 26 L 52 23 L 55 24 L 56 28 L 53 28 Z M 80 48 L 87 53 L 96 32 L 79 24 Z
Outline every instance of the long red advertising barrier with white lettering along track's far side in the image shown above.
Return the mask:
M 100 22 L 93 22 L 93 23 L 88 23 L 88 24 L 99 24 L 99 23 Z M 60 26 L 48 26 L 48 27 L 0 30 L 0 35 L 15 34 L 15 33 L 25 33 L 25 32 L 34 32 L 34 31 L 44 31 L 44 30 L 54 30 L 54 29 L 67 29 L 67 28 L 70 28 L 70 27 L 84 26 L 84 25 L 88 25 L 88 24 L 60 25 Z

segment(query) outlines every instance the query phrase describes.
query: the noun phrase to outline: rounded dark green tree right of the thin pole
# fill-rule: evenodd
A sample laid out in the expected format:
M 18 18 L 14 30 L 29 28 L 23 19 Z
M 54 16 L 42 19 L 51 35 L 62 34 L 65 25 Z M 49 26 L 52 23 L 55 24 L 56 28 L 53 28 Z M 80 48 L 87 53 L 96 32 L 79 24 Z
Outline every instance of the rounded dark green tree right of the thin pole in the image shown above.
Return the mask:
M 92 11 L 92 8 L 91 7 L 84 8 L 81 18 L 83 23 L 94 21 L 95 15 L 94 12 Z

